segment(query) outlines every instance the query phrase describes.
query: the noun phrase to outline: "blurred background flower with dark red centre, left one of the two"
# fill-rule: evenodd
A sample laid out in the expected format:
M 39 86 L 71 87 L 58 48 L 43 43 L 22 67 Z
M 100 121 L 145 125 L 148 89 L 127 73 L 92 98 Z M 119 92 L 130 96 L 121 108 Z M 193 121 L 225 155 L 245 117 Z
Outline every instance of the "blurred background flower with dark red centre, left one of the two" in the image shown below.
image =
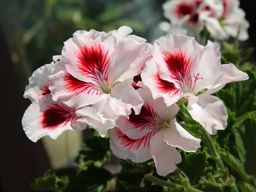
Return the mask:
M 163 14 L 171 21 L 169 34 L 197 37 L 204 25 L 200 20 L 203 0 L 169 0 L 163 4 Z

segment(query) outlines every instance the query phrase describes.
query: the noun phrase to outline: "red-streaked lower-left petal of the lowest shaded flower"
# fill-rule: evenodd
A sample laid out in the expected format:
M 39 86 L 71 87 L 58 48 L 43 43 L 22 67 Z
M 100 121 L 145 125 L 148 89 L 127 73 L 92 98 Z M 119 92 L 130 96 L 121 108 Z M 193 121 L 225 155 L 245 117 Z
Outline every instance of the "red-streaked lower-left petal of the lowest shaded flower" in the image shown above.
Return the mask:
M 114 127 L 109 130 L 110 149 L 118 158 L 130 159 L 135 163 L 145 162 L 152 158 L 150 155 L 150 139 L 156 132 L 157 129 L 140 139 L 132 140 L 122 134 L 120 129 Z

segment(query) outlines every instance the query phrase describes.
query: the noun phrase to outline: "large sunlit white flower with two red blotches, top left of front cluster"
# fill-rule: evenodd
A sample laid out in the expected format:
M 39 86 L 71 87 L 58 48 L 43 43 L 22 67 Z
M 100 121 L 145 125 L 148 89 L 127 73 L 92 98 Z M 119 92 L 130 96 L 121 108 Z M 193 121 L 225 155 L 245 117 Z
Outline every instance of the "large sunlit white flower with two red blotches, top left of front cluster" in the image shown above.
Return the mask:
M 118 115 L 128 116 L 131 108 L 138 114 L 143 100 L 131 83 L 141 72 L 147 44 L 131 32 L 126 26 L 109 33 L 75 32 L 51 76 L 53 100 L 76 108 L 108 100 Z

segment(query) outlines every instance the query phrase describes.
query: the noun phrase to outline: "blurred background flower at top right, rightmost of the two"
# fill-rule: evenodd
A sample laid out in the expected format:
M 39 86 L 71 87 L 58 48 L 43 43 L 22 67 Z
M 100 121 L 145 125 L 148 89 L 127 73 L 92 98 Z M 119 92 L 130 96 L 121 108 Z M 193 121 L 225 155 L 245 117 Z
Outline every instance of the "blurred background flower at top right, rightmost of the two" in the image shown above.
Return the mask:
M 207 3 L 211 10 L 222 10 L 221 14 L 215 17 L 212 17 L 207 11 L 201 14 L 201 20 L 205 22 L 207 31 L 212 38 L 225 40 L 230 36 L 236 37 L 239 29 L 239 40 L 244 41 L 249 38 L 247 30 L 250 24 L 245 20 L 245 12 L 239 8 L 238 0 L 212 0 Z M 220 6 L 222 9 L 218 9 Z

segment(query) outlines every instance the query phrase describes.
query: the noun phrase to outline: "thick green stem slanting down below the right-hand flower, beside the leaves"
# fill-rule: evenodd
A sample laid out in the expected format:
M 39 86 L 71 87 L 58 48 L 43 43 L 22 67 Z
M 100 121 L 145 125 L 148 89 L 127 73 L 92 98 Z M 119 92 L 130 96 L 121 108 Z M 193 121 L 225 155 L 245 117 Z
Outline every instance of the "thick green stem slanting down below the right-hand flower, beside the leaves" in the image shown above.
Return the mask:
M 217 150 L 216 150 L 216 148 L 214 146 L 214 143 L 212 142 L 212 139 L 210 138 L 209 133 L 204 129 L 204 127 L 201 127 L 201 133 L 204 136 L 204 139 L 207 141 L 209 152 L 212 155 L 213 159 L 216 161 L 217 166 L 222 171 L 224 171 L 225 170 L 224 164 L 223 164 L 223 162 L 221 160 L 221 157 L 218 154 L 218 152 L 217 152 Z

